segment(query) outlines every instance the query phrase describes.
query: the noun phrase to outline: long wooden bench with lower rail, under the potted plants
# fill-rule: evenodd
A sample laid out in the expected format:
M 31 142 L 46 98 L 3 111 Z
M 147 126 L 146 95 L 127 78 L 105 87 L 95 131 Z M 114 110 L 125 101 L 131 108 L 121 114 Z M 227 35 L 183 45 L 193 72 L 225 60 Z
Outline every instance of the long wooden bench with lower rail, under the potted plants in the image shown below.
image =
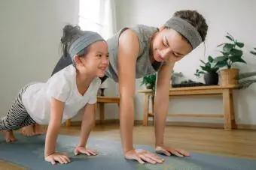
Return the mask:
M 170 88 L 169 97 L 172 96 L 187 96 L 187 95 L 222 95 L 223 101 L 223 114 L 168 114 L 172 117 L 190 117 L 190 118 L 224 118 L 224 130 L 232 130 L 236 128 L 236 121 L 233 111 L 233 89 L 236 86 L 198 86 L 198 87 L 186 87 L 186 88 Z M 144 116 L 143 125 L 148 125 L 148 118 L 153 117 L 154 114 L 148 112 L 149 98 L 152 100 L 152 109 L 154 109 L 154 97 L 152 97 L 151 90 L 139 90 L 139 93 L 145 95 L 144 101 Z M 153 110 L 154 112 L 154 110 Z

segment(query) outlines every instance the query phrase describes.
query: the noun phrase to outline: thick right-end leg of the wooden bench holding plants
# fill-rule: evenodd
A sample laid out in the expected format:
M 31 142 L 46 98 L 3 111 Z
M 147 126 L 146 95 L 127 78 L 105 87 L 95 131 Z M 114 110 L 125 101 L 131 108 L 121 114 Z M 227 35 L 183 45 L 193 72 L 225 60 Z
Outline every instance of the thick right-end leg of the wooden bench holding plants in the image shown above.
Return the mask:
M 224 110 L 224 130 L 232 130 L 233 128 L 233 95 L 230 89 L 223 91 L 223 110 Z M 231 99 L 232 97 L 232 99 Z

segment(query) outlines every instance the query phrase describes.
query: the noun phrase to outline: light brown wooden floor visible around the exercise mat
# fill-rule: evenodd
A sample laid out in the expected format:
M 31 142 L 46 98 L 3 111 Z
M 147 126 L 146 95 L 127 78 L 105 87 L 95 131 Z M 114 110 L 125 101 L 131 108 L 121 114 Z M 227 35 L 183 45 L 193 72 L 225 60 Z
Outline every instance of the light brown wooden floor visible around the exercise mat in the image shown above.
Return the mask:
M 154 146 L 154 128 L 136 126 L 133 130 L 133 140 L 136 144 Z M 62 127 L 61 134 L 78 136 L 80 127 Z M 91 136 L 100 139 L 120 140 L 118 125 L 97 125 Z M 196 127 L 166 127 L 166 145 L 182 148 L 186 151 L 245 157 L 256 159 L 256 131 L 196 128 Z M 15 165 L 0 161 L 0 169 L 20 170 Z

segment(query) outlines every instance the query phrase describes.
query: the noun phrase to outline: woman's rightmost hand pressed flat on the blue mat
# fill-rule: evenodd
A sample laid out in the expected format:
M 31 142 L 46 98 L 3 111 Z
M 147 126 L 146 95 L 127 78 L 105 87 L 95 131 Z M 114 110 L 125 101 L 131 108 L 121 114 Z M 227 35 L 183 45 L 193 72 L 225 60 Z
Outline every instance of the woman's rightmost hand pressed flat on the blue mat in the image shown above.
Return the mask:
M 176 155 L 177 157 L 188 157 L 189 154 L 186 151 L 180 149 L 174 149 L 169 147 L 157 146 L 157 154 L 165 154 L 166 156 Z

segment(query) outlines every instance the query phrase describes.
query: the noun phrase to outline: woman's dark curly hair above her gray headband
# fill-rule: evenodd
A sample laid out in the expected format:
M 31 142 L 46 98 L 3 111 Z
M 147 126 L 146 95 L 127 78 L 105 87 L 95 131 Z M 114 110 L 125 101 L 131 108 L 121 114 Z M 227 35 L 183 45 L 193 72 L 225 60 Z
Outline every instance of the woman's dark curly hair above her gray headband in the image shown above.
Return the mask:
M 173 16 L 185 19 L 187 22 L 197 28 L 202 40 L 206 40 L 208 25 L 206 23 L 206 19 L 200 13 L 198 13 L 197 10 L 179 10 L 175 12 Z

